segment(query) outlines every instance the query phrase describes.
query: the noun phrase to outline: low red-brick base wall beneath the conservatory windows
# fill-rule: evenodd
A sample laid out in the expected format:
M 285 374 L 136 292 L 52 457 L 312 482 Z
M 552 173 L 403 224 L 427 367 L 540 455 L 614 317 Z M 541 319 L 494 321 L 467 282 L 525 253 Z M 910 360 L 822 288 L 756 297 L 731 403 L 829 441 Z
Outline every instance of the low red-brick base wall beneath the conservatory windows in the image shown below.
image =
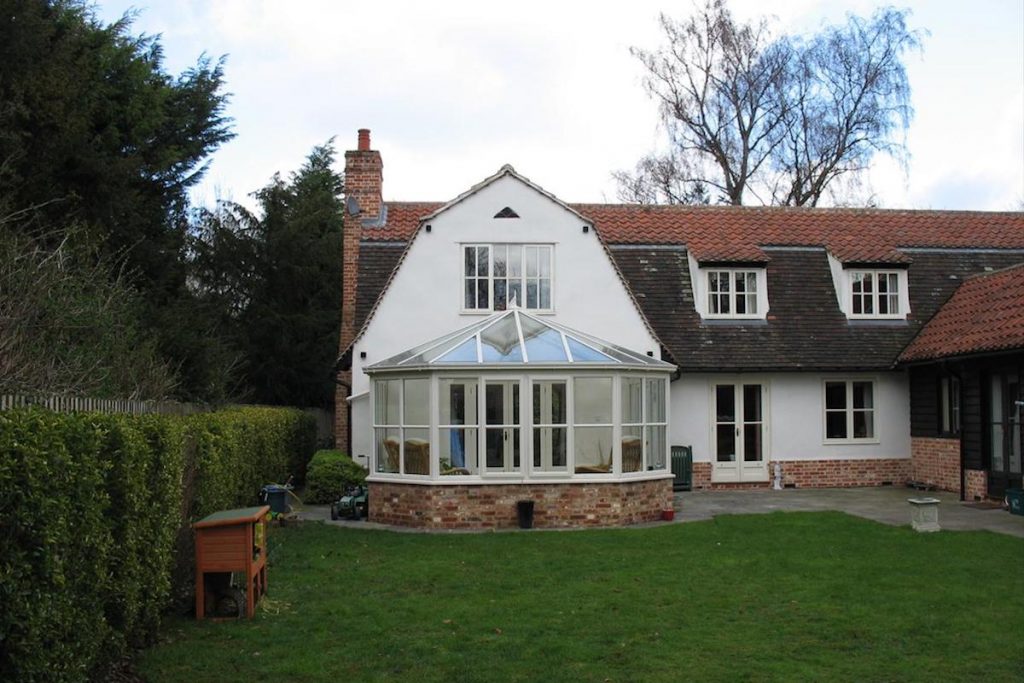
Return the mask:
M 535 501 L 534 526 L 622 526 L 672 507 L 672 479 L 614 483 L 420 485 L 370 482 L 370 521 L 420 528 L 514 528 L 516 502 Z

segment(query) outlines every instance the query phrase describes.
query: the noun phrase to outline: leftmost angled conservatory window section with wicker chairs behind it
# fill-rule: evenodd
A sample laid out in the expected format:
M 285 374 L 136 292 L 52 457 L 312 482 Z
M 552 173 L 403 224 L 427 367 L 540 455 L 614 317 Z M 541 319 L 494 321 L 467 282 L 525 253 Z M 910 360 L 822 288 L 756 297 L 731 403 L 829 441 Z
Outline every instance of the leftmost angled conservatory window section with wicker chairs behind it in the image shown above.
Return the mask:
M 430 380 L 381 380 L 374 404 L 377 471 L 430 474 Z

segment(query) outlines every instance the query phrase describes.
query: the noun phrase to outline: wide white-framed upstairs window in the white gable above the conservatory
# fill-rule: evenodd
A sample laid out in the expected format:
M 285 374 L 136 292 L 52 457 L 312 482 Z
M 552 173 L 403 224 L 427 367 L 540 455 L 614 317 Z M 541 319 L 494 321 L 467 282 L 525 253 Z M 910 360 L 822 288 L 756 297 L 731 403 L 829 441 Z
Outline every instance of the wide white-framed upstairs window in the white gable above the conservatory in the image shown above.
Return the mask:
M 552 309 L 551 245 L 463 245 L 463 309 Z

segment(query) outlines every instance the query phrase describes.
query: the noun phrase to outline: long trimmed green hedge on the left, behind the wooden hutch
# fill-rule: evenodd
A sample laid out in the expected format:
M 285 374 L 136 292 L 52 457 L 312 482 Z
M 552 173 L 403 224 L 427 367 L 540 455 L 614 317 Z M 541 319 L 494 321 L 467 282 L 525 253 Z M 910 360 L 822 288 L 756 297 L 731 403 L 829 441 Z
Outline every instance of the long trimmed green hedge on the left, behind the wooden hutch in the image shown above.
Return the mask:
M 104 676 L 193 585 L 190 522 L 308 459 L 291 409 L 0 413 L 0 680 Z

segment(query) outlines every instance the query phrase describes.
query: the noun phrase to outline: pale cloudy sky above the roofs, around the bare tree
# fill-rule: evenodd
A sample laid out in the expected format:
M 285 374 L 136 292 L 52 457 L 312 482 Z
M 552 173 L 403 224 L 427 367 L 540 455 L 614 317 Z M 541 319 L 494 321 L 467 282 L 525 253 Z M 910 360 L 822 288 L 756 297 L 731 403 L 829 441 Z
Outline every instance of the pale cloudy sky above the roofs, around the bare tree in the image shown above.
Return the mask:
M 868 15 L 859 0 L 733 0 L 737 16 L 806 32 Z M 659 11 L 687 2 L 99 0 L 161 34 L 166 68 L 227 55 L 238 136 L 194 197 L 249 202 L 336 136 L 339 169 L 373 131 L 388 200 L 452 199 L 503 164 L 567 202 L 614 202 L 610 173 L 660 141 L 630 46 L 655 47 Z M 915 116 L 906 172 L 879 160 L 887 208 L 1017 210 L 1024 202 L 1024 2 L 914 1 L 930 32 L 906 57 Z

